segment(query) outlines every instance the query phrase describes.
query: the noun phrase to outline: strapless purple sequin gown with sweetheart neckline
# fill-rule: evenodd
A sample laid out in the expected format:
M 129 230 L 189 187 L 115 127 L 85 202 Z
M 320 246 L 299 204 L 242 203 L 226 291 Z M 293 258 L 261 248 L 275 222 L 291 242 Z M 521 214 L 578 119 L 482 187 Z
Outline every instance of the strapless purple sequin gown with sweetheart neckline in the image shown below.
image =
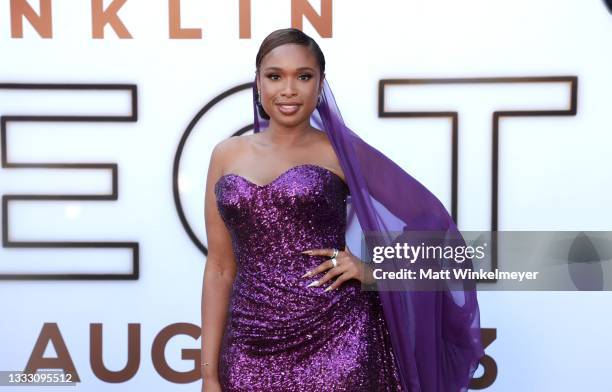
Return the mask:
M 325 260 L 300 251 L 344 249 L 348 192 L 311 164 L 266 185 L 237 174 L 215 185 L 238 266 L 219 361 L 223 391 L 401 391 L 378 293 L 356 279 L 324 292 L 306 287 L 323 274 L 300 278 Z

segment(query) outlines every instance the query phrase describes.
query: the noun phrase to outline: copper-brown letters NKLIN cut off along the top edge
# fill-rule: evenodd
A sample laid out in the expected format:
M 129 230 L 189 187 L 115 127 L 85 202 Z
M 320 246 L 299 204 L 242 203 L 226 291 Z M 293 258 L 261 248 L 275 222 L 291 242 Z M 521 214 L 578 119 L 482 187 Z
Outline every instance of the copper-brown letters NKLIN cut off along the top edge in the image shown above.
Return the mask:
M 91 14 L 83 15 L 82 18 L 91 20 L 92 38 L 105 38 L 104 33 L 107 27 L 112 29 L 115 35 L 121 39 L 133 38 L 129 28 L 133 23 L 130 23 L 129 17 L 123 19 L 119 12 L 123 6 L 126 6 L 126 8 L 130 8 L 126 11 L 127 14 L 129 11 L 134 10 L 131 7 L 136 6 L 137 3 L 143 4 L 143 2 L 110 0 L 106 1 L 106 6 L 104 0 L 90 0 L 88 3 L 91 4 Z M 147 6 L 150 6 L 148 3 L 162 3 L 162 1 L 144 2 Z M 166 3 L 168 37 L 170 39 L 201 39 L 202 29 L 195 26 L 185 27 L 181 20 L 181 11 L 183 11 L 183 14 L 190 11 L 194 12 L 196 11 L 193 9 L 194 6 L 202 7 L 203 5 L 194 4 L 195 2 L 189 4 L 185 2 L 185 6 L 181 7 L 181 0 L 166 0 Z M 251 38 L 251 0 L 240 0 L 237 3 L 236 14 L 238 17 L 239 38 Z M 11 0 L 9 4 L 11 38 L 23 38 L 25 23 L 28 23 L 40 37 L 53 38 L 53 5 L 52 0 Z M 35 8 L 38 10 L 35 10 Z M 291 0 L 290 9 L 291 27 L 302 29 L 303 19 L 305 18 L 308 19 L 322 38 L 330 38 L 332 36 L 332 0 L 321 0 L 320 14 L 317 13 L 308 0 Z M 80 11 L 80 8 L 73 8 L 73 10 L 71 13 Z M 142 11 L 144 11 L 143 16 L 151 12 L 150 9 Z M 71 15 L 71 18 L 74 18 L 74 16 Z M 227 18 L 228 15 L 223 15 L 223 19 Z

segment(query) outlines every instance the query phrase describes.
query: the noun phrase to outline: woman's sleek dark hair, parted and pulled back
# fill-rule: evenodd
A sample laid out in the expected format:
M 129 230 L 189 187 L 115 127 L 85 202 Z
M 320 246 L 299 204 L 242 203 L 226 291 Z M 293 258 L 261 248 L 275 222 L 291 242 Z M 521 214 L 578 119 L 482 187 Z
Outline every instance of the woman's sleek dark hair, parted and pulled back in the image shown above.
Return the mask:
M 268 34 L 266 38 L 264 38 L 264 40 L 261 42 L 261 45 L 259 46 L 257 56 L 255 57 L 255 72 L 259 74 L 259 67 L 261 66 L 261 61 L 266 56 L 266 54 L 268 54 L 272 49 L 285 44 L 303 45 L 310 49 L 312 54 L 315 55 L 317 62 L 319 63 L 321 76 L 323 76 L 323 74 L 325 73 L 325 56 L 323 56 L 321 48 L 319 47 L 317 42 L 309 35 L 295 28 L 275 30 Z M 266 113 L 263 109 L 263 105 L 259 102 L 257 103 L 257 109 L 259 110 L 259 115 L 261 117 L 265 118 L 266 120 L 270 119 L 268 113 Z

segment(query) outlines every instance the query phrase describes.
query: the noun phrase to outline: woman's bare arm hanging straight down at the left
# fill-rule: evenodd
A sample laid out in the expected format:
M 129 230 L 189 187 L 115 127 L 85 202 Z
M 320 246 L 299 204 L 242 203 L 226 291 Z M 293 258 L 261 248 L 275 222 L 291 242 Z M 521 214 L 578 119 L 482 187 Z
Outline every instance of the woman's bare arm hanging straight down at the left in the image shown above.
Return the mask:
M 208 175 L 204 214 L 208 257 L 202 282 L 202 377 L 204 383 L 217 383 L 219 350 L 227 322 L 227 311 L 234 277 L 236 261 L 229 231 L 222 220 L 214 187 L 223 174 L 223 160 L 227 156 L 230 140 L 219 143 L 213 149 Z M 208 363 L 208 365 L 204 365 Z M 204 386 L 203 383 L 203 386 Z M 211 388 L 212 389 L 212 388 Z

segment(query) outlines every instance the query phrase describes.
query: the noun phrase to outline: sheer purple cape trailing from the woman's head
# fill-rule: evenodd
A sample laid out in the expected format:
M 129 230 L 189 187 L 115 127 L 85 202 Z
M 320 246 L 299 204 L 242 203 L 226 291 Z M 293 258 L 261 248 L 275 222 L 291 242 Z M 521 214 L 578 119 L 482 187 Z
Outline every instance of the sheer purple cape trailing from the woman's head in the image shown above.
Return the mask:
M 255 132 L 268 127 L 269 121 L 257 110 L 256 81 L 253 115 Z M 344 124 L 327 79 L 310 122 L 327 132 L 344 171 L 350 191 L 347 233 L 435 230 L 462 241 L 455 223 L 436 196 Z M 479 358 L 484 355 L 475 288 L 460 291 L 379 289 L 379 295 L 403 389 L 407 392 L 467 391 Z

